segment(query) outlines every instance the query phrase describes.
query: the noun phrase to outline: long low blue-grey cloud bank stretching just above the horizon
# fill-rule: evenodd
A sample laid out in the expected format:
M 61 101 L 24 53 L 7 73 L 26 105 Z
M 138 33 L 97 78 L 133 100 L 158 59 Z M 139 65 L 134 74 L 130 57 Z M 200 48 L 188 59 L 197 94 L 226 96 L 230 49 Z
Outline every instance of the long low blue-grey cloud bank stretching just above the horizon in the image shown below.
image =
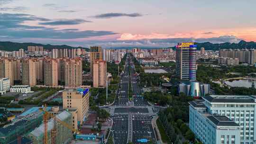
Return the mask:
M 1 31 L 0 31 L 1 33 Z M 46 31 L 46 35 L 48 32 Z M 91 32 L 94 33 L 94 32 Z M 36 33 L 35 33 L 36 35 Z M 242 39 L 236 37 L 236 36 L 219 36 L 219 37 L 211 37 L 211 38 L 165 38 L 165 39 L 141 39 L 141 40 L 97 40 L 98 37 L 104 37 L 104 36 L 97 36 L 97 38 L 89 37 L 89 38 L 81 38 L 81 39 L 54 39 L 51 38 L 53 35 L 50 33 L 51 36 L 47 36 L 49 38 L 44 38 L 40 36 L 36 36 L 35 38 L 27 38 L 22 39 L 20 38 L 18 42 L 34 42 L 34 43 L 50 43 L 54 45 L 73 45 L 73 46 L 84 46 L 84 47 L 90 47 L 91 45 L 101 45 L 103 48 L 128 48 L 128 47 L 141 47 L 141 48 L 166 48 L 166 47 L 172 47 L 177 45 L 179 42 L 198 42 L 198 43 L 204 43 L 204 42 L 210 42 L 210 43 L 224 43 L 224 42 L 230 42 L 230 43 L 238 43 Z M 64 33 L 64 35 L 70 35 L 70 33 Z M 105 35 L 109 36 L 109 35 Z M 5 40 L 5 38 L 8 38 L 9 40 L 12 40 L 9 37 L 0 36 L 0 40 Z M 91 40 L 92 39 L 92 40 Z M 13 41 L 17 41 L 17 39 L 13 39 Z

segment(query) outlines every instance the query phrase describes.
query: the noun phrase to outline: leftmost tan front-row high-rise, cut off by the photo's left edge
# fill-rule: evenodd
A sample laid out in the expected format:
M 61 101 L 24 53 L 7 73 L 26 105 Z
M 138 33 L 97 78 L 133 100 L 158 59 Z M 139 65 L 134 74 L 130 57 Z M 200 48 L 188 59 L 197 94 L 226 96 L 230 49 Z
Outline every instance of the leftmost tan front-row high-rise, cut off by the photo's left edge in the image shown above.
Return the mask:
M 12 63 L 8 58 L 0 59 L 0 78 L 9 78 L 10 85 L 13 85 Z

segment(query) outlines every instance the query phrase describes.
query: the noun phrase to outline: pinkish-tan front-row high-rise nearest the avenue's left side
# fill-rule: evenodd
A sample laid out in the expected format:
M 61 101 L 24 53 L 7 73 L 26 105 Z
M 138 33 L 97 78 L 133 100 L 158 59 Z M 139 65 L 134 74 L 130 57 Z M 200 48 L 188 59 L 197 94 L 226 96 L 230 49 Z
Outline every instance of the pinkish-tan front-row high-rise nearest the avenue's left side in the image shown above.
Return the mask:
M 107 63 L 102 60 L 95 60 L 93 63 L 93 87 L 106 87 Z

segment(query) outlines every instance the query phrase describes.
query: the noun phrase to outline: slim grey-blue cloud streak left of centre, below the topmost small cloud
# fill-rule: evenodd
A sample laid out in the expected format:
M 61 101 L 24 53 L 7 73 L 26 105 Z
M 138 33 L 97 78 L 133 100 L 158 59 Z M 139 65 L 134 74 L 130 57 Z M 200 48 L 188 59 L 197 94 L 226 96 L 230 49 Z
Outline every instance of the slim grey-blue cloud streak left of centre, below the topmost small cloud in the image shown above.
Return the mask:
M 77 25 L 85 22 L 92 22 L 84 19 L 57 19 L 49 22 L 41 22 L 40 25 L 58 26 L 58 25 Z

